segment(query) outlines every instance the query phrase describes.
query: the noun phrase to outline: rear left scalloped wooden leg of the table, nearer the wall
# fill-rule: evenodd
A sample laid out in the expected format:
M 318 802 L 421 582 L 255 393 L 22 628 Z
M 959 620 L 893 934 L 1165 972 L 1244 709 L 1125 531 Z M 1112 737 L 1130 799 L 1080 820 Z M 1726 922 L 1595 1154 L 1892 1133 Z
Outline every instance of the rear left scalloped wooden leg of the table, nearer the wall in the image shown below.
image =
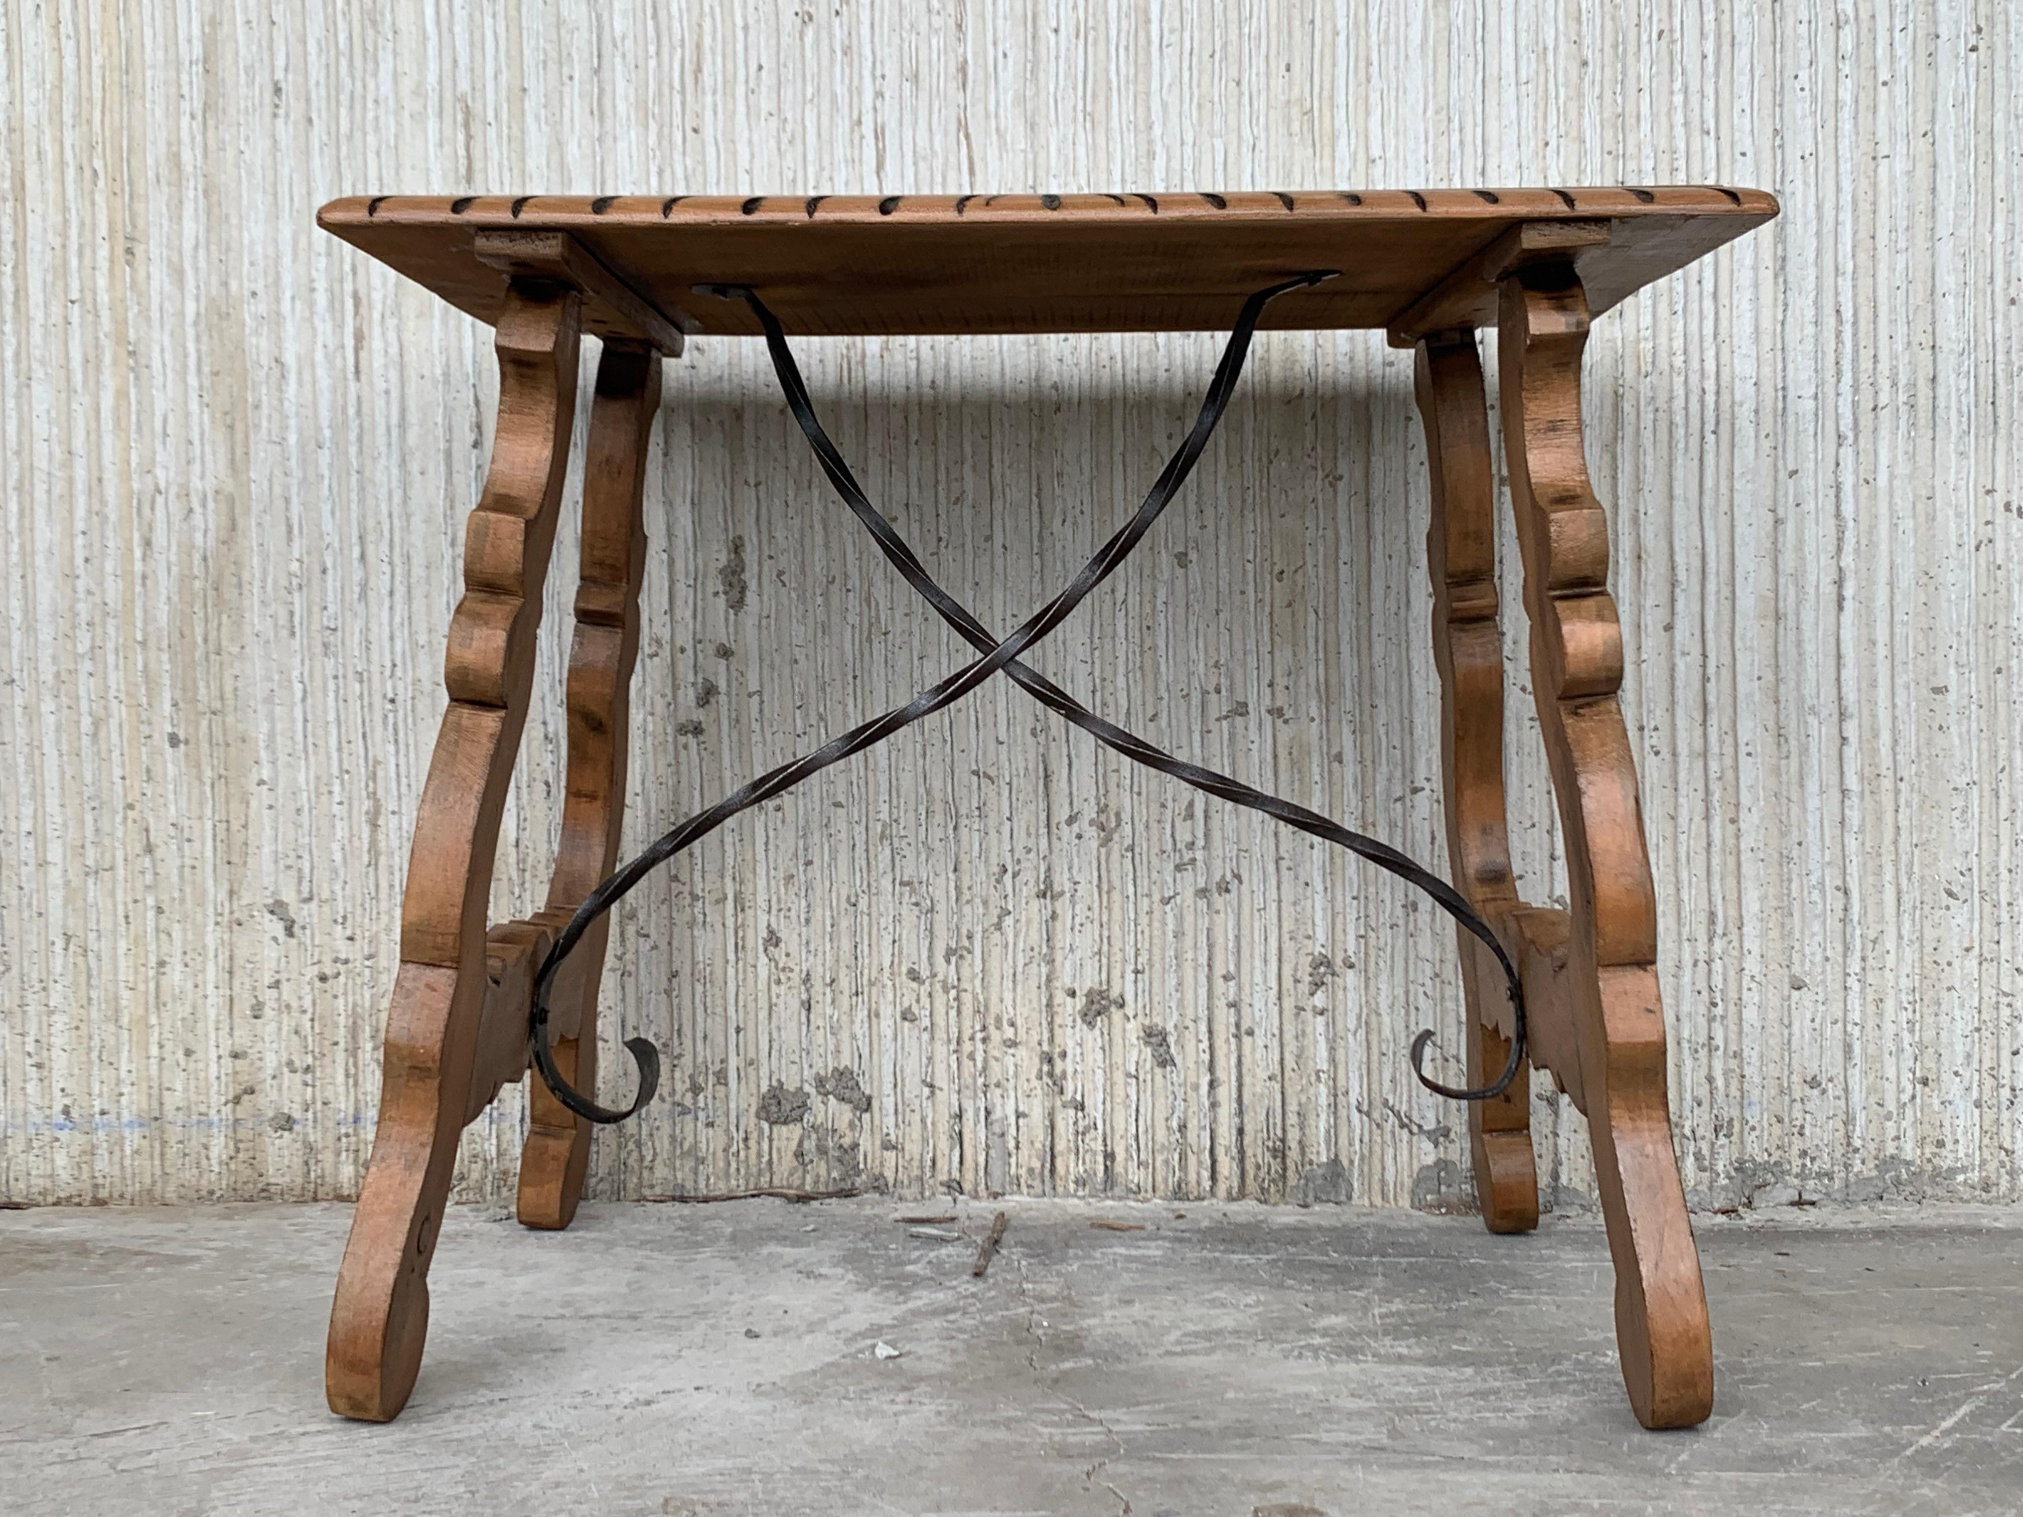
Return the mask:
M 639 651 L 639 578 L 645 570 L 645 445 L 659 409 L 659 354 L 607 344 L 597 364 L 591 439 L 583 469 L 583 572 L 577 637 L 568 651 L 568 779 L 562 841 L 540 914 L 554 932 L 617 866 L 625 819 L 625 734 Z M 611 918 L 593 926 L 558 977 L 550 1021 L 554 1062 L 579 1090 L 597 1086 L 597 985 Z M 579 967 L 581 965 L 581 967 Z M 528 1080 L 528 1133 L 520 1153 L 520 1222 L 566 1228 L 591 1163 L 591 1123 L 540 1080 Z

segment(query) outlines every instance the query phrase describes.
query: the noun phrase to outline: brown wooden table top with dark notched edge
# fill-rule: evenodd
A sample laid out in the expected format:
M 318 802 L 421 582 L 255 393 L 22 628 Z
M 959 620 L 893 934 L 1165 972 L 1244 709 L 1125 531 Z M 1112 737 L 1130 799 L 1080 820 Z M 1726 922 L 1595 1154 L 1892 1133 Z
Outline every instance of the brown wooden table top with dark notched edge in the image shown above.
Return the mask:
M 354 196 L 318 225 L 481 322 L 506 275 L 479 231 L 568 233 L 688 332 L 757 336 L 757 287 L 795 334 L 1214 332 L 1307 269 L 1264 328 L 1392 328 L 1523 222 L 1588 222 L 1578 267 L 1602 311 L 1778 210 L 1726 186 L 894 196 Z M 1606 233 L 1606 241 L 1602 241 Z M 1467 279 L 1461 281 L 1467 285 Z M 1450 281 L 1453 289 L 1453 281 Z M 1495 322 L 1495 287 L 1469 307 Z M 1453 295 L 1446 295 L 1453 307 Z M 593 322 L 593 330 L 597 330 Z

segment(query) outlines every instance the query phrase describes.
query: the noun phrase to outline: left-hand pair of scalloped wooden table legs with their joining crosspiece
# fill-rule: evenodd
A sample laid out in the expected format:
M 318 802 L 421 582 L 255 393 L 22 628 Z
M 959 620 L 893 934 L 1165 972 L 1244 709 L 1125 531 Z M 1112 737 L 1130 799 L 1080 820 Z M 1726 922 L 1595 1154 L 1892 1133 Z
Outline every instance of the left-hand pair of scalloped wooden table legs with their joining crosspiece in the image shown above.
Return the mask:
M 483 498 L 469 516 L 463 601 L 449 625 L 449 712 L 415 821 L 401 908 L 401 971 L 386 1019 L 378 1131 L 330 1313 L 334 1412 L 399 1416 L 429 1329 L 429 1260 L 457 1133 L 526 1074 L 532 979 L 554 932 L 617 856 L 627 686 L 639 639 L 639 522 L 659 356 L 607 340 L 585 469 L 583 578 L 568 670 L 568 795 L 548 906 L 486 928 L 506 787 L 526 724 L 542 587 L 577 403 L 581 297 L 514 277 L 498 320 L 500 413 Z M 589 1086 L 603 928 L 556 979 L 562 1072 Z M 538 1080 L 520 1220 L 562 1228 L 589 1161 L 589 1125 Z

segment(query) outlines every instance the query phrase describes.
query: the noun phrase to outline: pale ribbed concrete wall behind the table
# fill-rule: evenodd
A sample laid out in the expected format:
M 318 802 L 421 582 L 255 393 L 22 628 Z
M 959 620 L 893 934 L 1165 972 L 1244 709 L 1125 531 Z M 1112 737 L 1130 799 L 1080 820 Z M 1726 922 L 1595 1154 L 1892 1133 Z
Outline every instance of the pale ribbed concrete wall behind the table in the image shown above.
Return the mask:
M 1786 212 L 1606 318 L 1588 409 L 1687 1185 L 2019 1193 L 2017 8 L 536 10 L 8 4 L 0 1193 L 358 1181 L 496 376 L 318 202 L 1709 180 Z M 1214 348 L 803 360 L 1003 627 L 1135 504 Z M 755 346 L 672 366 L 651 481 L 631 839 L 965 657 Z M 1424 522 L 1408 358 L 1270 336 L 1183 504 L 1036 663 L 1442 860 Z M 564 532 L 550 617 L 573 574 Z M 560 651 L 502 918 L 546 878 Z M 1513 841 L 1554 898 L 1527 706 Z M 1455 1046 L 1450 943 L 1388 878 L 993 686 L 621 910 L 605 1025 L 664 1046 L 670 1096 L 601 1139 L 595 1187 L 1424 1203 L 1467 1161 L 1404 1064 L 1420 1025 Z M 467 1135 L 467 1195 L 510 1187 L 518 1121 L 514 1094 Z M 1582 1125 L 1544 1096 L 1537 1125 L 1574 1201 Z

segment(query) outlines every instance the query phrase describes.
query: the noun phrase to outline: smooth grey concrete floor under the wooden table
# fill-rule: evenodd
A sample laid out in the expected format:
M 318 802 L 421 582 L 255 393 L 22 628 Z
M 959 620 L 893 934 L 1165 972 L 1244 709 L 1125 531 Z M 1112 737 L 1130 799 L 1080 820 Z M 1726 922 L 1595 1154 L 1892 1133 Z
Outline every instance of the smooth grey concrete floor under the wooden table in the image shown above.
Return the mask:
M 1007 1201 L 973 1280 L 937 1210 L 457 1210 L 390 1426 L 324 1410 L 348 1208 L 4 1212 L 0 1511 L 2023 1511 L 2017 1214 L 1699 1218 L 1718 1406 L 1649 1434 L 1594 1220 Z

